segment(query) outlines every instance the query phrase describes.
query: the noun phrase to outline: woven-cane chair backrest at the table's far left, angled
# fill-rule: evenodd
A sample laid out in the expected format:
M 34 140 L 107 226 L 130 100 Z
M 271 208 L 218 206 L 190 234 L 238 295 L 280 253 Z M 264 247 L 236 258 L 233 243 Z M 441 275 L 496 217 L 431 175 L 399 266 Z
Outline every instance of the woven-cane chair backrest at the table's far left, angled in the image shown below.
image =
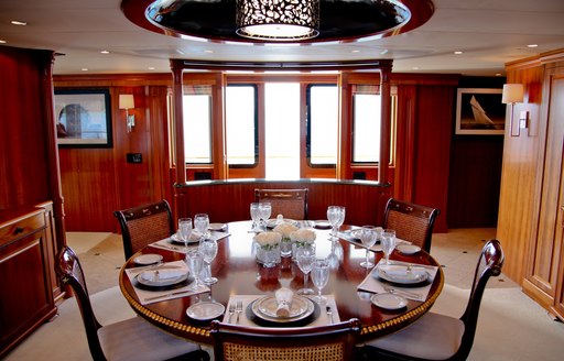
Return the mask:
M 113 216 L 121 227 L 126 260 L 145 245 L 174 233 L 171 207 L 164 199 L 150 205 L 116 210 Z

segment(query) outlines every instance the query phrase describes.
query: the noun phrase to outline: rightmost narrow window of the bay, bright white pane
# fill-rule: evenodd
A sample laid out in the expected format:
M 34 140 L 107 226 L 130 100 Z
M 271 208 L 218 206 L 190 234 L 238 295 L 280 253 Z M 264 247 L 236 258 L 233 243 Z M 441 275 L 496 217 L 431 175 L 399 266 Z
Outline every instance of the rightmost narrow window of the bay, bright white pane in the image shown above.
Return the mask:
M 378 87 L 354 87 L 352 163 L 380 161 L 380 105 Z

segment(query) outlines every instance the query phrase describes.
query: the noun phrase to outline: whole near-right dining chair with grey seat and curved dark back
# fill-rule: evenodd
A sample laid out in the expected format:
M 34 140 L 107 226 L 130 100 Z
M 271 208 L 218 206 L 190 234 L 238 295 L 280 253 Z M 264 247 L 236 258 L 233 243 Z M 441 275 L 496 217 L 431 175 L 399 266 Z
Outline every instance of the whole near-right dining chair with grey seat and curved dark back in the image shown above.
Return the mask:
M 365 359 L 466 360 L 474 343 L 484 289 L 490 276 L 501 273 L 503 259 L 499 241 L 488 241 L 478 259 L 468 304 L 460 318 L 426 313 L 406 328 L 366 343 Z

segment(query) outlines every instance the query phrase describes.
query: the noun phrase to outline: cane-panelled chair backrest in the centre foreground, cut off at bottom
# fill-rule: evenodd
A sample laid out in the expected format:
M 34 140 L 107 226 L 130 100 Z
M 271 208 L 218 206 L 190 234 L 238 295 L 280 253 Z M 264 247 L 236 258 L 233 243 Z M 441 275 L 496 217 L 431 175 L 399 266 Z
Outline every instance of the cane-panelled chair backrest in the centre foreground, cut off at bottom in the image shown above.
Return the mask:
M 316 328 L 259 328 L 212 322 L 214 355 L 223 360 L 352 360 L 360 321 Z

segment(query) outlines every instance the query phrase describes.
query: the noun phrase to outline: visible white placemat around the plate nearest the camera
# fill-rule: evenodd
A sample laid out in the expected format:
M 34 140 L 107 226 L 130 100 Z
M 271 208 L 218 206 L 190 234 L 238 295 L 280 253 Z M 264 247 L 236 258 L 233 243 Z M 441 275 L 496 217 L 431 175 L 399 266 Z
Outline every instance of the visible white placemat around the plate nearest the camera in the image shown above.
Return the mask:
M 242 311 L 239 315 L 240 316 L 239 322 L 237 325 L 247 326 L 247 327 L 268 328 L 268 327 L 263 327 L 263 326 L 259 326 L 259 325 L 254 324 L 252 320 L 247 318 L 247 314 L 246 314 L 247 307 L 253 300 L 259 299 L 263 296 L 264 295 L 232 295 L 231 297 L 229 297 L 229 302 L 227 304 L 226 309 L 230 309 L 230 305 L 234 305 L 234 309 L 235 309 L 235 305 L 237 304 L 237 302 L 241 302 L 242 303 Z M 321 307 L 319 317 L 317 317 L 310 325 L 304 326 L 304 327 L 318 327 L 318 326 L 329 325 L 332 322 L 332 318 L 333 318 L 334 324 L 340 322 L 339 313 L 337 310 L 337 305 L 335 304 L 335 297 L 333 295 L 324 295 L 324 297 L 327 298 L 327 302 L 319 305 L 319 307 Z M 313 300 L 313 302 L 315 302 L 315 300 Z M 329 316 L 325 311 L 326 306 L 330 307 L 330 309 L 333 310 L 332 318 L 329 318 Z M 236 320 L 237 320 L 237 314 L 230 314 L 229 311 L 226 311 L 224 315 L 224 319 L 221 321 L 224 324 L 236 324 L 237 322 Z M 271 328 L 278 328 L 278 327 L 271 327 Z

